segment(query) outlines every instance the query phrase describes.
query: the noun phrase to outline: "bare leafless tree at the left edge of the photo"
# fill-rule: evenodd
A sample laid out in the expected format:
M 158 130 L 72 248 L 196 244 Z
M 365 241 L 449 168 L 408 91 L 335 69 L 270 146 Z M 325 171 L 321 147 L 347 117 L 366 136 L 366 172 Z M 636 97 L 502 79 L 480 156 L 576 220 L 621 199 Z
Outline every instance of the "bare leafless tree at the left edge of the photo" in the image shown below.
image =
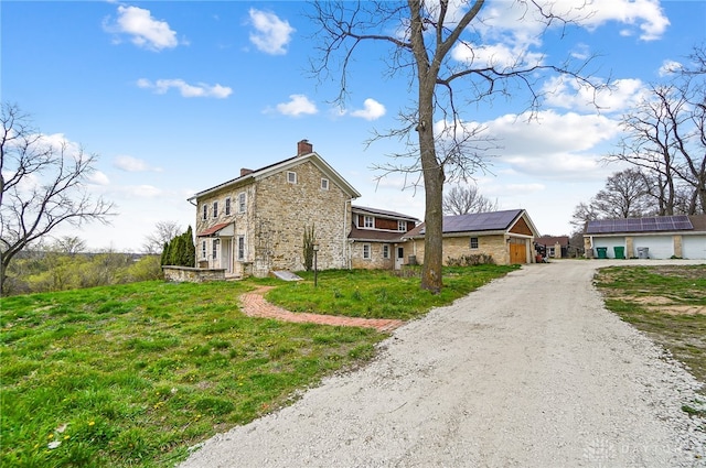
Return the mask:
M 52 143 L 17 105 L 0 113 L 0 291 L 12 259 L 60 225 L 107 222 L 113 203 L 92 199 L 86 177 L 95 155 Z

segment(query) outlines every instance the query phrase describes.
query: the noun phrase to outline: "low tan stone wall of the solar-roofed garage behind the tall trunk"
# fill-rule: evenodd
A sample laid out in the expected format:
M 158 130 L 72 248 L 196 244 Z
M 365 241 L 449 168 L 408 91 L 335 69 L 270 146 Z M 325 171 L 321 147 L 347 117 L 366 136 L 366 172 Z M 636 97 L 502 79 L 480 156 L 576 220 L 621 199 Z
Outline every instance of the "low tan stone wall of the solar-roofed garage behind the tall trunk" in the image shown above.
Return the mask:
M 417 262 L 424 263 L 424 239 L 409 241 L 408 246 L 405 246 L 405 251 L 416 255 Z M 481 253 L 491 255 L 499 265 L 510 263 L 510 251 L 503 235 L 479 236 L 478 249 L 471 249 L 470 236 L 443 238 L 443 264 L 447 264 L 449 258 L 457 259 Z

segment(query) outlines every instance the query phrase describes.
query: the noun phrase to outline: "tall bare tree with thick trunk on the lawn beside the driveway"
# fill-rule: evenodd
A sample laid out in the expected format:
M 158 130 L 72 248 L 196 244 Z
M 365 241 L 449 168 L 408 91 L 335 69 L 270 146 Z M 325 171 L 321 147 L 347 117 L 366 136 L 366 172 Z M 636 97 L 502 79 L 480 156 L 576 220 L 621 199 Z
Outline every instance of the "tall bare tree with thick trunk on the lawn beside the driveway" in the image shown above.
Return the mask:
M 340 77 L 338 100 L 343 104 L 349 92 L 347 77 L 354 67 L 354 54 L 365 43 L 388 47 L 385 64 L 391 78 L 404 75 L 413 104 L 402 109 L 400 127 L 377 137 L 395 137 L 407 144 L 407 151 L 393 156 L 407 161 L 379 166 L 383 172 L 416 174 L 425 189 L 425 260 L 421 287 L 441 290 L 442 198 L 447 181 L 464 179 L 482 170 L 493 139 L 484 129 L 464 120 L 461 111 L 471 111 L 495 96 L 511 97 L 527 91 L 527 108 L 538 109 L 543 91 L 538 85 L 547 74 L 576 79 L 579 86 L 592 86 L 584 76 L 581 62 L 546 65 L 533 54 L 517 54 L 512 63 L 493 57 L 482 59 L 479 13 L 483 0 L 460 4 L 448 0 L 406 2 L 388 1 L 317 1 L 312 19 L 321 29 L 319 56 L 312 72 L 320 78 Z M 517 1 L 524 14 L 517 21 L 541 20 L 548 25 L 566 25 L 580 9 L 563 12 L 560 3 L 539 7 L 535 1 Z M 459 8 L 456 8 L 459 7 Z M 564 17 L 564 18 L 563 18 Z M 477 28 L 474 28 L 477 26 Z M 456 55 L 453 51 L 458 54 Z M 458 58 L 463 57 L 463 58 Z M 406 160 L 405 160 L 406 159 Z M 414 179 L 414 176 L 413 176 Z

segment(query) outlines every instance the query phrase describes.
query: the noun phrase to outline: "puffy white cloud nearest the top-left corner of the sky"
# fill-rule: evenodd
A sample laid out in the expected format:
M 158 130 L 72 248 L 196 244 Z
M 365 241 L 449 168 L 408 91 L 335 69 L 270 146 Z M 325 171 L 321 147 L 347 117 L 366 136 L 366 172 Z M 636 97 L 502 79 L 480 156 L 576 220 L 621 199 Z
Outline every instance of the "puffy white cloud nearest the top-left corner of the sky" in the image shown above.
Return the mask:
M 167 21 L 152 18 L 149 10 L 138 7 L 118 7 L 118 18 L 113 24 L 104 21 L 105 31 L 128 34 L 132 44 L 151 51 L 172 48 L 179 45 L 176 33 Z

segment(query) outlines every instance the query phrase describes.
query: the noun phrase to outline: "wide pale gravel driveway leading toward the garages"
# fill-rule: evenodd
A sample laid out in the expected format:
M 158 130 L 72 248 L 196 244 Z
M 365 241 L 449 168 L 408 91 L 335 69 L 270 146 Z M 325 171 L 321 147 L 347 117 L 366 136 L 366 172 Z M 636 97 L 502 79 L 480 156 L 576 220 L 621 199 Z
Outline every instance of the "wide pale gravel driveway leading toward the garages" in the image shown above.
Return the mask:
M 182 468 L 706 467 L 706 434 L 681 411 L 698 383 L 591 284 L 616 263 L 637 261 L 532 264 L 493 281 Z

